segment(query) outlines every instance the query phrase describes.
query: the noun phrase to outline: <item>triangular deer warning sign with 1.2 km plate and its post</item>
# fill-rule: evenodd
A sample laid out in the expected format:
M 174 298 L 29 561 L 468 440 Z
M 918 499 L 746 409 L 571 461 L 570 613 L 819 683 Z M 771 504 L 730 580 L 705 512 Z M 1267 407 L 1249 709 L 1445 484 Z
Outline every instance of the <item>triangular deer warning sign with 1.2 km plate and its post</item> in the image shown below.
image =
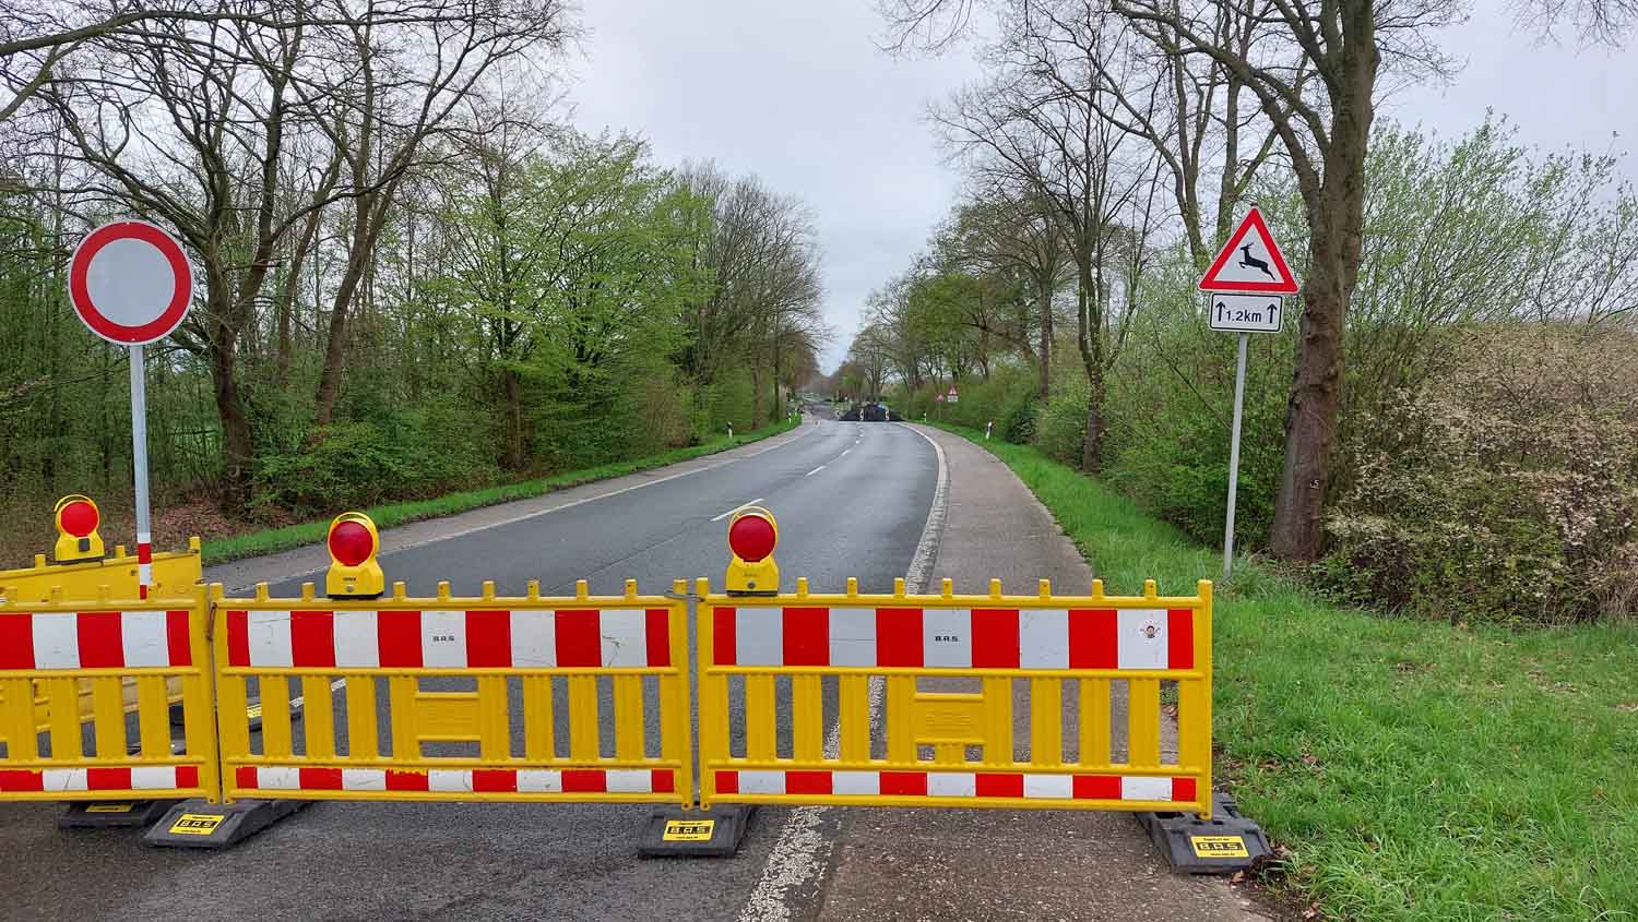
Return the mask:
M 1212 329 L 1240 334 L 1233 377 L 1233 429 L 1228 436 L 1228 514 L 1224 524 L 1224 580 L 1233 570 L 1233 511 L 1240 488 L 1240 419 L 1245 411 L 1245 346 L 1253 332 L 1279 332 L 1286 321 L 1286 295 L 1297 293 L 1279 244 L 1268 231 L 1256 203 L 1199 282 L 1206 292 L 1206 319 Z

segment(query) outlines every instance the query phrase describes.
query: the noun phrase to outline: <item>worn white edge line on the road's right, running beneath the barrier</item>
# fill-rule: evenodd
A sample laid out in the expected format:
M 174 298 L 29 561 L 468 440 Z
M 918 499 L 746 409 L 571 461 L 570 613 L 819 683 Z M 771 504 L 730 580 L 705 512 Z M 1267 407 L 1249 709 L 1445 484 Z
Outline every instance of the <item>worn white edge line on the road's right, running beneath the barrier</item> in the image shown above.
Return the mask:
M 901 424 L 903 426 L 903 424 Z M 904 426 L 909 429 L 909 426 Z M 927 524 L 922 526 L 921 542 L 916 544 L 916 555 L 904 573 L 906 590 L 924 593 L 932 583 L 932 565 L 939 555 L 939 539 L 943 536 L 943 517 L 948 504 L 950 468 L 943 459 L 943 445 L 919 429 L 911 429 L 932 445 L 939 455 L 939 483 L 932 491 L 932 508 L 927 509 Z M 880 678 L 870 681 L 870 722 L 876 725 L 881 719 L 881 698 L 886 683 Z M 840 755 L 840 724 L 830 724 L 824 739 L 824 757 Z M 819 832 L 819 820 L 830 807 L 796 807 L 780 829 L 780 838 L 768 852 L 768 863 L 762 868 L 762 879 L 750 893 L 745 907 L 739 912 L 739 922 L 760 922 L 765 919 L 791 919 L 790 904 L 794 894 L 806 893 L 824 873 L 830 861 L 830 850 L 835 843 L 826 842 Z

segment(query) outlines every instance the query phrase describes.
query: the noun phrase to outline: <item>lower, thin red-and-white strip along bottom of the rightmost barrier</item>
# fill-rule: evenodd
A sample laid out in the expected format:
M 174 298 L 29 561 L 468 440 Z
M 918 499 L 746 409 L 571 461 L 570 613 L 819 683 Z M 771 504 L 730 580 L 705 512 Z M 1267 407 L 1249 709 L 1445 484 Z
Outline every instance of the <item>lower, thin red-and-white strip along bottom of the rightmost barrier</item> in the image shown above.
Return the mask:
M 1194 802 L 1194 778 L 1022 771 L 716 771 L 717 794 Z

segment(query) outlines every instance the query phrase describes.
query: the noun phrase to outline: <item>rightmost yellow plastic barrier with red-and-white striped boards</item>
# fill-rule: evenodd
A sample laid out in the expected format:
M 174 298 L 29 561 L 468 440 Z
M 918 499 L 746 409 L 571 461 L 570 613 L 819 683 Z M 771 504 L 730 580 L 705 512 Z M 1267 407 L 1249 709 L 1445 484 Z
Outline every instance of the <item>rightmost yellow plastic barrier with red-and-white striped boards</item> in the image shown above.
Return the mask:
M 699 616 L 701 806 L 1188 811 L 1210 817 L 1210 583 L 1197 594 L 709 594 Z M 776 681 L 790 683 L 780 721 Z M 834 683 L 834 685 L 832 685 Z M 1163 683 L 1178 745 L 1161 752 Z M 742 685 L 742 689 L 737 688 Z M 1016 701 L 1016 688 L 1025 693 Z M 1124 689 L 1120 686 L 1125 686 Z M 1065 694 L 1071 691 L 1075 694 Z M 1124 694 L 1122 694 L 1124 691 Z M 826 739 L 824 701 L 835 698 Z M 881 737 L 873 698 L 885 694 Z M 744 699 L 732 752 L 731 699 Z M 880 698 L 878 698 L 880 699 Z M 1070 704 L 1066 709 L 1065 704 Z M 1027 707 L 1027 755 L 1014 732 Z M 1125 711 L 1125 725 L 1114 716 Z M 1065 753 L 1065 717 L 1078 716 Z M 781 747 L 781 737 L 788 745 Z M 1124 747 L 1120 745 L 1124 742 Z M 1124 757 L 1117 750 L 1124 748 Z M 783 752 L 781 752 L 783 750 Z

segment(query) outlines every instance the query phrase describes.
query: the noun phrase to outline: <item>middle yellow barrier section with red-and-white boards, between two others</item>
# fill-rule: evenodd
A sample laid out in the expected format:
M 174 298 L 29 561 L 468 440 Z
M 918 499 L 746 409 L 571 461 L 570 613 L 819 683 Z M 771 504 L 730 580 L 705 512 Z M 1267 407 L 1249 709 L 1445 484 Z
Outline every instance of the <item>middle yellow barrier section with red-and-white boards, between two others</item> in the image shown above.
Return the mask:
M 639 596 L 634 580 L 624 596 L 590 596 L 581 581 L 573 598 L 542 598 L 536 583 L 526 598 L 498 598 L 493 583 L 482 598 L 452 598 L 447 583 L 410 598 L 395 583 L 375 601 L 314 598 L 311 585 L 300 599 L 265 585 L 251 599 L 211 591 L 229 802 L 693 802 L 683 601 Z M 293 698 L 300 737 L 277 704 Z

